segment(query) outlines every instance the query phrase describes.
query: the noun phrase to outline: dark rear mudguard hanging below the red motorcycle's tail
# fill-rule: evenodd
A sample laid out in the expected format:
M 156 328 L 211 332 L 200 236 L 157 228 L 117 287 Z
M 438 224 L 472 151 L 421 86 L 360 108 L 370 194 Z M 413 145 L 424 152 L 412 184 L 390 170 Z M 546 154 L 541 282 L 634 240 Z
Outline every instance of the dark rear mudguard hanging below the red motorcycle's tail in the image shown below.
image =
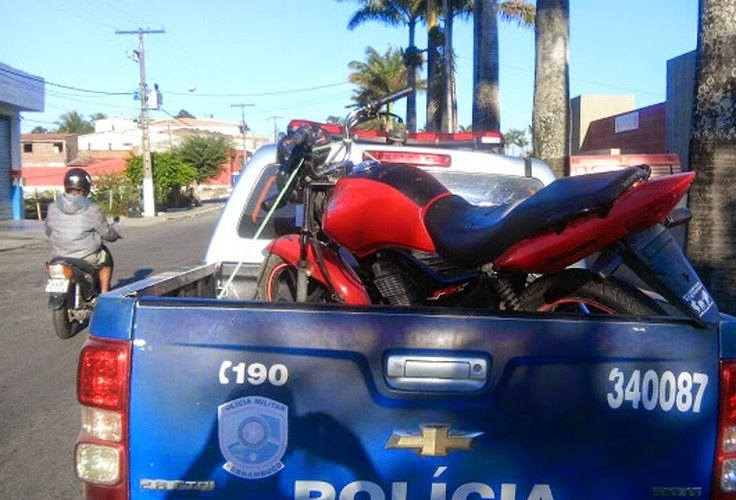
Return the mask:
M 621 264 L 688 317 L 701 324 L 720 320 L 713 298 L 663 225 L 627 236 L 602 252 L 591 271 L 605 279 Z

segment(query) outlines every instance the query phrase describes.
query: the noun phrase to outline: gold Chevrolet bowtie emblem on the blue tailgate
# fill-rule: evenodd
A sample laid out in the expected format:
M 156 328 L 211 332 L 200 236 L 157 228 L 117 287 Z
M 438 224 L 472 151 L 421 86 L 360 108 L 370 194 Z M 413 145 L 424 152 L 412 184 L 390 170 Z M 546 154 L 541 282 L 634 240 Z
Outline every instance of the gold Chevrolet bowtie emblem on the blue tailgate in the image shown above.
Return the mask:
M 421 434 L 394 431 L 386 443 L 390 450 L 414 450 L 423 457 L 444 457 L 452 450 L 470 450 L 482 432 L 453 432 L 445 424 L 422 425 Z

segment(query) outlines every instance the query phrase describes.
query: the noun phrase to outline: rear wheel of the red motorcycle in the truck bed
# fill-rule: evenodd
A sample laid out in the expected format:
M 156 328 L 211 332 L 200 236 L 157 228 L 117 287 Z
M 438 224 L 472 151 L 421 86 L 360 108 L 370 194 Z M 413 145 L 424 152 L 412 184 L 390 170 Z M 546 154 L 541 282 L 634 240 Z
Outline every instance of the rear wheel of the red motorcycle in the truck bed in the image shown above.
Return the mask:
M 596 280 L 583 269 L 568 269 L 542 276 L 520 297 L 520 309 L 581 315 L 657 316 L 664 310 L 633 285 L 609 278 Z

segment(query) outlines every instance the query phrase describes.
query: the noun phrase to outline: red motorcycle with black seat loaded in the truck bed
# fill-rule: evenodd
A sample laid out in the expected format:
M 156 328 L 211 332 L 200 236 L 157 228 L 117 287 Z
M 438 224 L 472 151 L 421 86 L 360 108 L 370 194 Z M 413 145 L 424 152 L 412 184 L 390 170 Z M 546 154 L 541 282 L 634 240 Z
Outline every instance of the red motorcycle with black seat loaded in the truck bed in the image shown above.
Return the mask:
M 385 104 L 410 91 L 351 112 L 342 144 L 354 126 L 379 118 Z M 310 125 L 279 144 L 282 189 L 265 208 L 288 200 L 304 210 L 299 233 L 267 248 L 262 300 L 578 314 L 677 310 L 718 321 L 717 306 L 667 231 L 690 218 L 675 207 L 692 172 L 650 179 L 648 167 L 629 167 L 561 178 L 521 202 L 476 206 L 414 166 L 337 161 L 334 141 Z M 592 264 L 570 267 L 583 260 Z M 639 286 L 614 276 L 619 268 L 633 271 Z

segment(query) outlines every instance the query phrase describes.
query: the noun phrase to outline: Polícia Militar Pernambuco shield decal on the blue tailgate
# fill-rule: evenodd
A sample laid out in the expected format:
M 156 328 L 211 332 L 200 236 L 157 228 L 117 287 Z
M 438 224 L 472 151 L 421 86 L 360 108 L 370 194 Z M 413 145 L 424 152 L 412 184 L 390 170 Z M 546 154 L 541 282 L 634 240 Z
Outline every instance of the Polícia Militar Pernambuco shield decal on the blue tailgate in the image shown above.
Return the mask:
M 262 479 L 284 468 L 289 407 L 260 396 L 233 399 L 217 408 L 220 453 L 227 472 Z

